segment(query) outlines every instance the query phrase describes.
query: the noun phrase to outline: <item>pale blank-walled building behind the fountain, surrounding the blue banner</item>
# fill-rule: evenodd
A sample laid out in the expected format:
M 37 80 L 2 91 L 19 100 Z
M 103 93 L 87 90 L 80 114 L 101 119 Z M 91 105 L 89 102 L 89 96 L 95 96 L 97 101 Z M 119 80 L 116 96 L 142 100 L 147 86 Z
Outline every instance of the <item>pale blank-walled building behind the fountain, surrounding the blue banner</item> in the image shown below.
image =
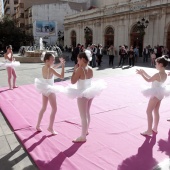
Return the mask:
M 77 14 L 80 11 L 87 10 L 90 6 L 87 2 L 88 1 L 86 0 L 81 0 L 81 2 L 60 1 L 52 4 L 33 5 L 31 7 L 31 23 L 35 43 L 38 43 L 40 37 L 42 37 L 48 45 L 54 45 L 56 43 L 63 45 L 65 16 Z M 53 35 L 49 34 L 48 36 L 36 34 L 37 21 L 55 22 L 55 33 Z

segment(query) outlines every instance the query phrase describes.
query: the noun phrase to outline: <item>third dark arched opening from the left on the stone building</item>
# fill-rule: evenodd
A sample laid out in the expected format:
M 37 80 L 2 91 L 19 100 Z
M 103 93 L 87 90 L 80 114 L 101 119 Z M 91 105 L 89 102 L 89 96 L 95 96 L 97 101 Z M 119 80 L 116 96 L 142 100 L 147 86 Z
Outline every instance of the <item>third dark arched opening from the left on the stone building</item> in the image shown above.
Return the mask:
M 105 31 L 105 46 L 109 47 L 114 45 L 114 30 L 112 27 L 108 27 Z

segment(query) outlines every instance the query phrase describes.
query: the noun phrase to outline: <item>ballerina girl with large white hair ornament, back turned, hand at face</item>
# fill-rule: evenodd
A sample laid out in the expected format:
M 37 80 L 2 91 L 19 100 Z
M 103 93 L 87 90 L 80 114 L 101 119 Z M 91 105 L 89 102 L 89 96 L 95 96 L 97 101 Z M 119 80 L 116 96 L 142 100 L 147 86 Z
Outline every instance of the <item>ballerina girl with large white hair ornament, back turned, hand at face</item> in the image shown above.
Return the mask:
M 82 130 L 81 135 L 73 142 L 85 142 L 88 128 L 90 125 L 90 107 L 95 96 L 106 88 L 106 83 L 102 80 L 92 82 L 93 70 L 88 66 L 92 59 L 89 50 L 79 53 L 77 57 L 78 64 L 74 67 L 71 77 L 71 83 L 77 83 L 77 86 L 69 86 L 66 88 L 66 94 L 71 98 L 77 98 L 77 104 L 81 117 Z

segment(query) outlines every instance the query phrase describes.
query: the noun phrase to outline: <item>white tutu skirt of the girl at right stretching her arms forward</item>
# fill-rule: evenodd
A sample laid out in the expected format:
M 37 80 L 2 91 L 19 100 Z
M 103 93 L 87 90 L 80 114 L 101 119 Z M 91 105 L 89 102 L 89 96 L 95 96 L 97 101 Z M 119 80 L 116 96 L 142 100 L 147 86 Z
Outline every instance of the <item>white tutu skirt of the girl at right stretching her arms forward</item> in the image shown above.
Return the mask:
M 154 81 L 151 87 L 143 87 L 142 94 L 145 97 L 156 97 L 162 100 L 164 97 L 170 96 L 170 85 L 163 82 Z

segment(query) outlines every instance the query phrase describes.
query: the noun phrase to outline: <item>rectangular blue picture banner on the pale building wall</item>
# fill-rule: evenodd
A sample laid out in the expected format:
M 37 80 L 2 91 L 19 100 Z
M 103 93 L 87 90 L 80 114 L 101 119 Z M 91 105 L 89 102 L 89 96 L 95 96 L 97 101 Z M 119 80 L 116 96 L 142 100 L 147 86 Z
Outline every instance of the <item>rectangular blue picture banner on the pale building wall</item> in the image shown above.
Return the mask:
M 48 36 L 56 34 L 55 21 L 36 21 L 35 34 L 39 36 Z

